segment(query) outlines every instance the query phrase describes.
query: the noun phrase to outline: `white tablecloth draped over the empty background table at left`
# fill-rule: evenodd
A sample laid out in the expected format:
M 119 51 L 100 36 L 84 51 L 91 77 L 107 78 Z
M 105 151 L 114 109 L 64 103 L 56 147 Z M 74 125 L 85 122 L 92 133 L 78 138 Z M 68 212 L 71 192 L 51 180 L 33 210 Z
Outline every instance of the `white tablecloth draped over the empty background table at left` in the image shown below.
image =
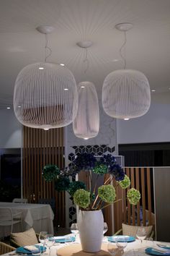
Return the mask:
M 0 202 L 1 208 L 10 208 L 12 213 L 22 212 L 23 230 L 33 227 L 35 232 L 48 231 L 53 234 L 53 210 L 50 205 L 30 204 L 30 203 L 16 203 L 16 202 Z M 21 231 L 21 225 L 14 225 L 13 232 Z M 10 229 L 5 228 L 0 231 L 0 237 L 10 234 Z

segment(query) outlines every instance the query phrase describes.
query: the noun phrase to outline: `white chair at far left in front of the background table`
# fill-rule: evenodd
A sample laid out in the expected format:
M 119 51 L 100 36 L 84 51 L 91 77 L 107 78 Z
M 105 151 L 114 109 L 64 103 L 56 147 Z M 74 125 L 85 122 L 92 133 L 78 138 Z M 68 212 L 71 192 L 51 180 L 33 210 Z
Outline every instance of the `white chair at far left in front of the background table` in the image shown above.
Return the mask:
M 10 208 L 1 208 L 0 210 L 0 226 L 1 227 L 11 226 L 10 233 L 12 233 L 13 226 L 19 222 L 21 223 L 21 227 L 22 227 L 22 212 L 13 214 Z

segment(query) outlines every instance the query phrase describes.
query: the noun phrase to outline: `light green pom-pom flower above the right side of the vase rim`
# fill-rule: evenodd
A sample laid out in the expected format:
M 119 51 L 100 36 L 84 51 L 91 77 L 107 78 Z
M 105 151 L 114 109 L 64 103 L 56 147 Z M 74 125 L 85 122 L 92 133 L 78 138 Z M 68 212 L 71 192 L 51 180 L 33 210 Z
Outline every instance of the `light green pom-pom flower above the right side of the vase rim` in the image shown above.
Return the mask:
M 112 203 L 116 198 L 115 187 L 112 185 L 102 185 L 98 188 L 98 195 L 104 202 Z

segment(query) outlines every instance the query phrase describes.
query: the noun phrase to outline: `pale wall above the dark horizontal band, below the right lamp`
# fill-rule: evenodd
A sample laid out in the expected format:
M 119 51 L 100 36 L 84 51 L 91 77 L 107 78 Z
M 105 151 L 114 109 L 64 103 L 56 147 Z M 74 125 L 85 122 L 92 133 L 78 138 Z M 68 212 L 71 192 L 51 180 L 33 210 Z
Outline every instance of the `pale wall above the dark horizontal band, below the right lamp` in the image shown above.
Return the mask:
M 144 116 L 117 120 L 117 143 L 170 142 L 170 104 L 152 103 Z

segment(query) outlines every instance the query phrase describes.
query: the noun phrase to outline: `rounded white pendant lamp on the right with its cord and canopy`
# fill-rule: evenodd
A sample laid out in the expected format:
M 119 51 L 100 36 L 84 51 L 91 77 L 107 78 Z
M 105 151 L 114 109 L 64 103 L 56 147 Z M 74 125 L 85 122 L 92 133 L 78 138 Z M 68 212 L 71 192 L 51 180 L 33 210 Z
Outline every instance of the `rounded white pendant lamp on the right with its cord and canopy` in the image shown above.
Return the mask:
M 125 33 L 132 28 L 130 23 L 121 23 L 116 28 Z M 120 55 L 122 56 L 122 47 Z M 124 67 L 126 67 L 126 60 Z M 104 79 L 102 106 L 109 116 L 118 119 L 132 119 L 143 116 L 151 104 L 151 90 L 145 74 L 133 69 L 120 69 L 111 72 Z

